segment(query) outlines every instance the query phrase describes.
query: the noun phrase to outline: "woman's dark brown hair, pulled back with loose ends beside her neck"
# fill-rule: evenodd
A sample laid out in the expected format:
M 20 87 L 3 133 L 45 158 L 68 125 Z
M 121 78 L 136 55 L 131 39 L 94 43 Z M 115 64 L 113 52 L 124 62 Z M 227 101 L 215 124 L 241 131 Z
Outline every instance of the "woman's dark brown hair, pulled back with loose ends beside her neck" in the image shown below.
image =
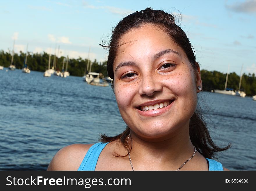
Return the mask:
M 144 24 L 152 24 L 153 26 L 159 27 L 165 31 L 170 36 L 170 38 L 186 53 L 186 56 L 189 59 L 193 69 L 196 70 L 199 67 L 198 62 L 195 60 L 193 47 L 186 33 L 175 24 L 175 17 L 169 13 L 164 12 L 163 10 L 153 10 L 152 8 L 148 7 L 145 10 L 136 11 L 135 13 L 132 13 L 122 19 L 113 29 L 109 44 L 100 44 L 102 47 L 109 49 L 107 72 L 110 78 L 114 79 L 113 63 L 116 57 L 117 49 L 120 45 L 122 45 L 119 42 L 120 38 L 132 29 L 140 28 Z M 190 139 L 192 144 L 205 158 L 212 158 L 214 157 L 215 152 L 229 149 L 231 144 L 229 144 L 227 147 L 220 148 L 212 141 L 206 127 L 206 123 L 202 116 L 199 114 L 200 112 L 198 112 L 198 110 L 200 110 L 200 107 L 196 109 L 195 113 L 190 119 Z M 120 140 L 120 142 L 128 149 L 127 136 L 129 133 L 130 128 L 127 126 L 123 133 L 114 137 L 108 137 L 105 134 L 101 134 L 100 141 L 111 142 Z

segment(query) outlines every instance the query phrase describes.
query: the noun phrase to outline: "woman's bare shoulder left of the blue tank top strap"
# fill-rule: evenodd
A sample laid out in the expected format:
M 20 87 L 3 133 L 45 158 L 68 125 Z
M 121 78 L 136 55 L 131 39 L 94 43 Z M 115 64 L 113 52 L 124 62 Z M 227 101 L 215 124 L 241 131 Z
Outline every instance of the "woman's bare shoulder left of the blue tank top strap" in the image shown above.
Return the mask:
M 72 144 L 60 149 L 47 170 L 77 170 L 93 144 Z

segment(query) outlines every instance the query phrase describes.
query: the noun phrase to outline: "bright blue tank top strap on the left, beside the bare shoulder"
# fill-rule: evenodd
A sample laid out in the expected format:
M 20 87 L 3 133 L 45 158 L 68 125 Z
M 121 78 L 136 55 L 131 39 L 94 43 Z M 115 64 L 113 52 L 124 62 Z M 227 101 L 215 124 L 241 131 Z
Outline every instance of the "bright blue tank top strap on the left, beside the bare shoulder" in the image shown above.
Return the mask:
M 107 144 L 108 142 L 98 142 L 92 145 L 83 158 L 83 161 L 78 170 L 95 170 L 99 155 Z

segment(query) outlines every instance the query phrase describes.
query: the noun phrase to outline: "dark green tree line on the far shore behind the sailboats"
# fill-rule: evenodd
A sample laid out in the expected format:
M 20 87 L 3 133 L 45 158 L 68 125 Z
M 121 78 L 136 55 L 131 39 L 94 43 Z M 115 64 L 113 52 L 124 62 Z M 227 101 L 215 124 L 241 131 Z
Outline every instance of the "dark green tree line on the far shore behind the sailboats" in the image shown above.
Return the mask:
M 8 52 L 0 51 L 0 65 L 4 67 L 9 67 L 11 62 L 11 54 Z M 13 57 L 13 64 L 18 69 L 22 69 L 24 64 L 24 58 L 26 57 L 26 53 L 22 51 L 19 54 L 15 53 Z M 27 65 L 31 70 L 45 72 L 48 69 L 48 59 L 49 54 L 46 52 L 43 53 L 28 53 L 27 57 Z M 62 70 L 64 57 L 60 58 L 56 57 L 56 69 Z M 54 56 L 51 56 L 51 67 L 53 64 Z M 87 64 L 91 63 L 91 60 L 77 58 L 77 59 L 69 59 L 67 71 L 70 72 L 72 76 L 83 76 L 87 69 Z M 102 73 L 104 76 L 107 76 L 106 70 L 106 61 L 103 63 L 98 63 L 94 60 L 92 63 L 92 72 Z M 65 69 L 65 67 L 64 67 Z M 218 71 L 207 71 L 201 70 L 201 78 L 203 83 L 203 90 L 211 91 L 214 89 L 224 90 L 226 74 Z M 231 88 L 233 90 L 238 90 L 239 88 L 240 76 L 238 76 L 235 72 L 230 73 L 228 75 L 227 88 Z M 256 94 L 256 77 L 255 74 L 245 73 L 242 76 L 241 81 L 241 90 L 246 92 L 247 96 L 253 96 Z

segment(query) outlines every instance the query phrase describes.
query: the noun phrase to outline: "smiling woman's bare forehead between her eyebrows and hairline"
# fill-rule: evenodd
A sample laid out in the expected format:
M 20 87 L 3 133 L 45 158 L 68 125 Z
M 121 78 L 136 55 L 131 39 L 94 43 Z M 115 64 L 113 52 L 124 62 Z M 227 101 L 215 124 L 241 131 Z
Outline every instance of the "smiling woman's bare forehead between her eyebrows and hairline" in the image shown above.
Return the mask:
M 179 57 L 186 56 L 183 49 L 165 31 L 147 25 L 135 28 L 122 36 L 117 48 L 114 65 L 116 67 L 117 63 L 127 61 L 126 59 L 159 58 L 164 53 L 175 53 Z

